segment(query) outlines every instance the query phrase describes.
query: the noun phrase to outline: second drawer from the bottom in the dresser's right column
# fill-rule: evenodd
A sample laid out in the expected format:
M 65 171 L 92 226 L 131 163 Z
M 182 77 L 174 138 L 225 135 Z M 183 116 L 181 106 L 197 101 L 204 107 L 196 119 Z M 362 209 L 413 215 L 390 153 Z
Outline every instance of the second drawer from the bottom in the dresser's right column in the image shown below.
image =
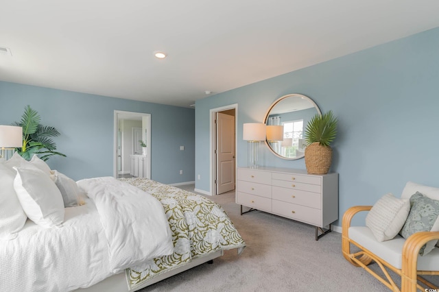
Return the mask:
M 280 186 L 273 186 L 272 198 L 278 201 L 298 204 L 315 209 L 321 209 L 320 194 L 306 191 L 294 190 L 291 188 L 281 188 Z

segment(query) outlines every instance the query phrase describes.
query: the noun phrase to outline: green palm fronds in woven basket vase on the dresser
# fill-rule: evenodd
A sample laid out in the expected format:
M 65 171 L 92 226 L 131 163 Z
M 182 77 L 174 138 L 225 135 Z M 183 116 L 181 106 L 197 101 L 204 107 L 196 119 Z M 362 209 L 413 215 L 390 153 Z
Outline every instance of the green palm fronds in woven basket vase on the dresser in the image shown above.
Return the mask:
M 305 165 L 308 173 L 326 174 L 331 167 L 331 144 L 337 135 L 337 118 L 332 110 L 325 114 L 316 114 L 305 130 Z

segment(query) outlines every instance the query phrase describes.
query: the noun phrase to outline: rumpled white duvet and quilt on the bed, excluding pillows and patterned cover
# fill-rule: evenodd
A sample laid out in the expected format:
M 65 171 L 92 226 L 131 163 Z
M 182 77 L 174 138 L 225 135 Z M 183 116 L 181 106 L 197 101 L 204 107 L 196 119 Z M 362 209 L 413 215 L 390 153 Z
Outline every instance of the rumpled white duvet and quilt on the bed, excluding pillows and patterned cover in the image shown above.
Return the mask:
M 97 186 L 98 182 L 106 188 Z M 71 291 L 89 287 L 125 266 L 139 263 L 139 257 L 172 253 L 169 225 L 161 204 L 156 208 L 152 202 L 156 199 L 146 199 L 150 203 L 143 204 L 141 193 L 130 191 L 133 199 L 127 200 L 120 183 L 113 178 L 84 181 L 80 185 L 95 202 L 85 199 L 84 206 L 66 208 L 62 227 L 42 228 L 28 219 L 16 239 L 0 241 L 0 291 Z M 130 189 L 128 184 L 125 186 Z M 142 195 L 151 197 L 143 192 Z M 125 199 L 121 201 L 121 197 Z M 117 210 L 122 211 L 120 216 Z M 150 219 L 147 223 L 161 224 L 161 216 L 165 226 L 150 227 L 161 230 L 158 237 L 143 234 L 145 230 L 139 228 L 147 227 L 136 222 L 146 217 Z M 148 251 L 139 250 L 143 244 Z

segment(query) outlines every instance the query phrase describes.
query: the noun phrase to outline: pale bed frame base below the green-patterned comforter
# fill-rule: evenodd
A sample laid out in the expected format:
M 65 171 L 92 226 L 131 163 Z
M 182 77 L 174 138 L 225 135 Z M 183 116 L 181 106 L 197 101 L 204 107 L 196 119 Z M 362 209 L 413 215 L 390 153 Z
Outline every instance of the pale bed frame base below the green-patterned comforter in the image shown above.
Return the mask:
M 126 280 L 125 273 L 118 273 L 114 276 L 110 276 L 109 278 L 106 278 L 105 280 L 102 280 L 101 282 L 94 284 L 91 287 L 85 288 L 85 289 L 78 289 L 75 291 L 78 292 L 132 292 L 132 291 L 138 291 L 140 289 L 143 289 L 147 286 L 150 286 L 156 282 L 160 282 L 161 280 L 165 280 L 166 278 L 169 278 L 171 276 L 174 276 L 178 273 L 181 273 L 182 271 L 187 271 L 188 269 L 191 269 L 193 267 L 196 267 L 198 265 L 207 263 L 214 258 L 217 258 L 219 256 L 222 256 L 224 252 L 222 250 L 218 250 L 217 252 L 213 252 L 212 254 L 206 254 L 206 256 L 200 256 L 198 258 L 194 258 L 190 263 L 187 263 L 186 265 L 182 265 L 176 269 L 171 269 L 169 271 L 166 271 L 165 273 L 161 273 L 160 275 L 152 278 L 151 280 L 147 280 L 145 282 L 141 282 L 139 286 L 134 287 L 133 289 L 128 289 L 128 284 Z

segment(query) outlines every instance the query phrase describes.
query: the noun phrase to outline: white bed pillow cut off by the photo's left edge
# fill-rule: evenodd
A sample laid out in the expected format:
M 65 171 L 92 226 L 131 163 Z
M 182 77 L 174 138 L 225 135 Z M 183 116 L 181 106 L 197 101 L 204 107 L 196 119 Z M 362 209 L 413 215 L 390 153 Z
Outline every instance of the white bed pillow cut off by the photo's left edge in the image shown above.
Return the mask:
M 14 190 L 15 174 L 14 169 L 0 164 L 0 239 L 3 240 L 14 239 L 27 219 Z

